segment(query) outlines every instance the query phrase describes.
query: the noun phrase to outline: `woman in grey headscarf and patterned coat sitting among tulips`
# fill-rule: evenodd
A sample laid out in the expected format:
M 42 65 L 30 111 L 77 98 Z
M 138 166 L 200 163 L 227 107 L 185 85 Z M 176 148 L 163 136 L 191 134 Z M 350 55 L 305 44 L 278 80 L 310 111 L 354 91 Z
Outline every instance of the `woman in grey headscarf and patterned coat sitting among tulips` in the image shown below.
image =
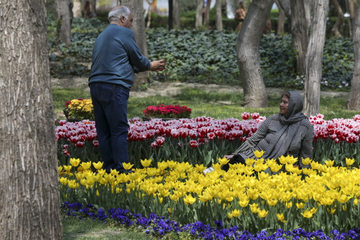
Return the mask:
M 246 158 L 257 159 L 255 150 L 263 150 L 264 159 L 277 159 L 281 155 L 297 157 L 294 166 L 309 168 L 310 164 L 302 164 L 302 158 L 312 159 L 313 125 L 301 110 L 302 96 L 295 91 L 285 91 L 281 94 L 280 112 L 270 115 L 257 130 L 244 141 L 231 155 L 228 164 L 244 163 Z M 228 164 L 222 169 L 227 171 Z

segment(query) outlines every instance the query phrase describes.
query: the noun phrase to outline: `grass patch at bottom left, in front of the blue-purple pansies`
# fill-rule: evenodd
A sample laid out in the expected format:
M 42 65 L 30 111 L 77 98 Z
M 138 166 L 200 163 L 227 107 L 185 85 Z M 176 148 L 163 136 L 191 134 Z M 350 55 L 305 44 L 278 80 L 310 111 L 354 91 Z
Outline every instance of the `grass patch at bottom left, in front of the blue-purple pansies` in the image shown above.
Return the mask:
M 155 239 L 145 233 L 136 232 L 133 229 L 116 227 L 112 223 L 103 223 L 100 220 L 93 221 L 90 218 L 78 220 L 77 218 L 62 216 L 62 232 L 64 240 L 150 240 Z

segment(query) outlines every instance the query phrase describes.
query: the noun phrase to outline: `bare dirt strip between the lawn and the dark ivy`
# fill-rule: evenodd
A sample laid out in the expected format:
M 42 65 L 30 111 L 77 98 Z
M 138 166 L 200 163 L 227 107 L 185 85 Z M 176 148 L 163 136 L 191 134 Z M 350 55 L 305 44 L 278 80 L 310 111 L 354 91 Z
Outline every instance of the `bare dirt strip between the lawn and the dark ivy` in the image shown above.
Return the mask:
M 65 88 L 65 87 L 79 87 L 83 88 L 85 91 L 89 91 L 87 86 L 88 78 L 87 77 L 77 77 L 77 78 L 52 78 L 51 86 L 53 88 Z M 200 83 L 186 83 L 186 82 L 159 82 L 154 81 L 147 89 L 143 91 L 130 91 L 130 96 L 133 97 L 145 97 L 145 96 L 154 96 L 156 94 L 161 96 L 172 96 L 180 92 L 182 87 L 197 87 L 205 91 L 219 91 L 219 92 L 243 92 L 242 87 L 240 86 L 230 86 L 230 85 L 216 85 L 216 84 L 200 84 Z M 266 93 L 268 95 L 278 94 L 280 95 L 283 89 L 276 87 L 266 87 Z M 303 90 L 296 90 L 301 95 L 303 95 Z M 339 92 L 339 91 L 321 91 L 321 96 L 348 96 L 348 92 Z

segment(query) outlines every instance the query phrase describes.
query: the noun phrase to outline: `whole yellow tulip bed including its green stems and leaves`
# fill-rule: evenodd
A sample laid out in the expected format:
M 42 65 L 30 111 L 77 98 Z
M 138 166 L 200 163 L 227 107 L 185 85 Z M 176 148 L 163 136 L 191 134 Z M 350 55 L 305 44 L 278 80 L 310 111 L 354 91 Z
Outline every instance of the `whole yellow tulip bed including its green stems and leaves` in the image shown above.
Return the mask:
M 180 224 L 200 221 L 215 226 L 221 220 L 226 228 L 237 225 L 251 233 L 273 226 L 284 230 L 300 226 L 329 234 L 360 225 L 360 169 L 352 167 L 352 159 L 347 167 L 311 161 L 312 169 L 301 170 L 292 166 L 294 158 L 282 157 L 287 173 L 275 175 L 263 171 L 281 167 L 274 160 L 249 159 L 227 172 L 216 163 L 206 175 L 203 165 L 167 160 L 158 162 L 157 168 L 146 167 L 150 162 L 142 160 L 145 167 L 128 174 L 107 174 L 100 169 L 101 162 L 72 158 L 70 165 L 59 166 L 61 201 L 105 209 L 121 206 L 145 217 L 167 216 Z M 124 167 L 131 169 L 132 164 Z

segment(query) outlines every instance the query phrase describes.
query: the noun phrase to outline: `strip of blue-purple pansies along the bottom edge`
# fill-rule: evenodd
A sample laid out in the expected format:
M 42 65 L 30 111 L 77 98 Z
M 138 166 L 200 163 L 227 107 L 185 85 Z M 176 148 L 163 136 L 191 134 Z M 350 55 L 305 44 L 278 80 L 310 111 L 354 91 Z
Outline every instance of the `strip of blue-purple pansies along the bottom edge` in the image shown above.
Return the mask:
M 295 228 L 292 230 L 284 231 L 278 228 L 276 231 L 261 230 L 254 234 L 246 230 L 241 230 L 237 226 L 231 226 L 224 228 L 221 220 L 215 221 L 216 227 L 211 227 L 208 224 L 203 224 L 200 221 L 193 223 L 187 223 L 184 225 L 179 224 L 174 220 L 164 219 L 161 216 L 157 216 L 154 213 L 150 213 L 149 217 L 144 217 L 138 213 L 131 213 L 128 209 L 110 208 L 106 212 L 102 209 L 96 209 L 92 204 L 83 206 L 78 202 L 64 202 L 62 211 L 69 217 L 77 217 L 83 219 L 83 217 L 90 217 L 93 220 L 99 219 L 105 221 L 106 219 L 114 219 L 117 224 L 124 225 L 129 229 L 136 231 L 143 231 L 147 234 L 151 234 L 154 237 L 164 237 L 167 234 L 171 234 L 171 239 L 182 239 L 181 236 L 187 235 L 186 239 L 193 237 L 193 239 L 264 239 L 265 236 L 269 236 L 267 239 L 294 239 L 294 238 L 306 238 L 306 239 L 358 239 L 360 237 L 360 228 L 350 229 L 346 232 L 339 232 L 337 229 L 333 229 L 326 235 L 321 229 L 316 231 L 307 232 L 302 228 Z M 192 237 L 190 239 L 192 239 Z

